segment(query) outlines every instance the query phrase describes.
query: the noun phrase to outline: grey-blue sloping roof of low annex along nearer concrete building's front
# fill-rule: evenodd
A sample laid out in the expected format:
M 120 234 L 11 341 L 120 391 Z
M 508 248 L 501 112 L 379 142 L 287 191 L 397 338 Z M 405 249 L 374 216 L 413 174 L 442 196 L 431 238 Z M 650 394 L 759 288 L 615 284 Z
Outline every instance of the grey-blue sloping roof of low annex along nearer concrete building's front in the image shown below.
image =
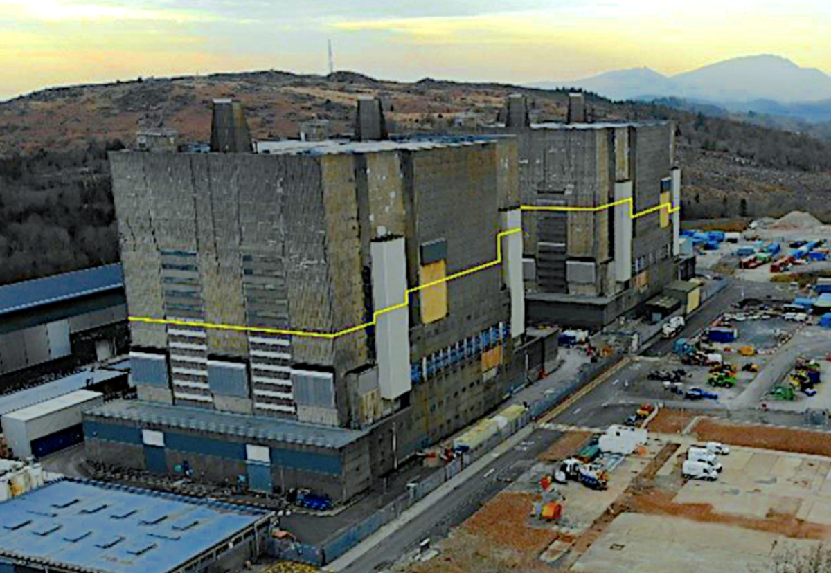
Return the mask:
M 343 448 L 366 435 L 366 431 L 360 430 L 141 400 L 116 400 L 100 408 L 90 409 L 86 414 L 130 420 L 140 424 L 160 424 L 170 428 L 226 433 L 243 438 L 300 443 L 320 448 Z

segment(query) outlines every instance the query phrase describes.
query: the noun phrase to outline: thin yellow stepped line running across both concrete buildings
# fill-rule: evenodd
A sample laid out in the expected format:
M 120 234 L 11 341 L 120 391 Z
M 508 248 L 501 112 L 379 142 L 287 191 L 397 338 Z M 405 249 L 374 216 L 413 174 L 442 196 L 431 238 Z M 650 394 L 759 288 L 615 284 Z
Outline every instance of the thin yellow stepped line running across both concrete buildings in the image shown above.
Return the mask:
M 521 205 L 519 209 L 521 211 L 578 211 L 578 212 L 591 212 L 597 213 L 598 211 L 602 211 L 607 208 L 617 207 L 618 205 L 628 204 L 629 205 L 629 216 L 630 218 L 638 218 L 642 217 L 643 215 L 647 215 L 649 213 L 654 213 L 655 211 L 660 211 L 662 208 L 666 208 L 667 213 L 675 213 L 679 211 L 681 207 L 673 207 L 672 203 L 661 203 L 660 205 L 656 205 L 656 207 L 645 209 L 639 213 L 634 213 L 632 211 L 633 200 L 632 198 L 625 198 L 615 201 L 613 203 L 607 203 L 605 205 L 600 205 L 598 207 L 566 207 L 566 206 L 536 206 L 536 205 Z M 200 321 L 179 321 L 175 319 L 169 318 L 152 318 L 150 316 L 128 316 L 127 320 L 130 322 L 141 322 L 145 324 L 152 324 L 152 325 L 167 325 L 167 326 L 190 326 L 195 328 L 209 328 L 215 331 L 235 331 L 235 332 L 252 332 L 252 333 L 260 333 L 260 334 L 273 334 L 273 335 L 286 335 L 286 336 L 304 336 L 306 338 L 322 338 L 325 340 L 332 340 L 337 338 L 338 336 L 351 334 L 352 332 L 362 331 L 370 326 L 376 326 L 378 324 L 378 316 L 385 315 L 387 312 L 397 311 L 401 308 L 406 308 L 410 306 L 410 295 L 424 290 L 425 288 L 435 287 L 435 285 L 441 284 L 442 282 L 450 282 L 457 278 L 466 277 L 468 275 L 472 275 L 475 272 L 484 271 L 484 269 L 490 267 L 496 267 L 502 264 L 502 242 L 500 239 L 503 237 L 507 237 L 508 235 L 513 235 L 514 233 L 521 233 L 521 228 L 514 228 L 509 229 L 508 231 L 502 231 L 497 233 L 496 235 L 496 259 L 490 262 L 484 262 L 481 265 L 477 265 L 476 267 L 471 267 L 469 269 L 465 269 L 465 271 L 455 272 L 452 275 L 448 275 L 447 277 L 440 278 L 436 281 L 427 282 L 423 285 L 419 285 L 417 287 L 408 288 L 404 293 L 404 302 L 401 302 L 396 305 L 385 306 L 377 311 L 372 313 L 372 321 L 365 322 L 360 325 L 350 326 L 342 331 L 337 332 L 316 332 L 316 331 L 293 331 L 287 329 L 280 329 L 280 328 L 268 328 L 265 326 L 244 326 L 244 325 L 224 325 L 224 324 L 217 324 L 214 322 L 200 322 Z

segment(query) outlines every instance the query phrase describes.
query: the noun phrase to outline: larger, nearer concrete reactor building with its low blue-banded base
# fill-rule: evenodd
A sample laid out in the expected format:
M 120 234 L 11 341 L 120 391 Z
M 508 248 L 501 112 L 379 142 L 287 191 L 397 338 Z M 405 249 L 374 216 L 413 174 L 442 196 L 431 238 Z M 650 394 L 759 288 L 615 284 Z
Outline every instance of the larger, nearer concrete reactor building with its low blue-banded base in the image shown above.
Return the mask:
M 240 121 L 110 156 L 138 399 L 87 453 L 344 500 L 524 380 L 517 141 L 389 140 L 361 100 L 357 140 L 253 153 Z

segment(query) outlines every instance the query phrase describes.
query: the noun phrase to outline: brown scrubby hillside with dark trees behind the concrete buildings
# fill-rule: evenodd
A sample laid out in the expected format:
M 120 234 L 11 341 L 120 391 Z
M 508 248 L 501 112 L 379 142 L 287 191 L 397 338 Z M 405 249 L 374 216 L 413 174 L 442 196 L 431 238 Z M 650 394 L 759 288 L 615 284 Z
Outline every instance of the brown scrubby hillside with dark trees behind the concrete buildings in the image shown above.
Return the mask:
M 38 91 L 0 103 L 0 283 L 117 258 L 106 149 L 165 126 L 182 141 L 209 139 L 211 100 L 243 101 L 253 137 L 297 136 L 327 119 L 352 131 L 355 101 L 381 96 L 396 131 L 486 130 L 504 99 L 523 91 L 533 120 L 562 120 L 566 94 L 498 84 L 380 81 L 351 72 L 280 71 L 147 79 Z M 810 205 L 831 221 L 831 145 L 805 135 L 661 105 L 588 96 L 594 120 L 671 119 L 691 218 L 781 214 Z

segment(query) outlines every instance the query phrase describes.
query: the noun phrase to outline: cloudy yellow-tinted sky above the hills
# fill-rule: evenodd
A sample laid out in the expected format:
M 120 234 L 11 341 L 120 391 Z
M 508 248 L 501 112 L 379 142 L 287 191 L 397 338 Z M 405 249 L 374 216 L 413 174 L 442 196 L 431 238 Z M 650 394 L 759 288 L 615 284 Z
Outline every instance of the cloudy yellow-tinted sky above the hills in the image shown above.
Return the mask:
M 390 80 L 668 75 L 772 53 L 831 73 L 828 0 L 0 0 L 0 100 L 47 86 L 277 69 Z

